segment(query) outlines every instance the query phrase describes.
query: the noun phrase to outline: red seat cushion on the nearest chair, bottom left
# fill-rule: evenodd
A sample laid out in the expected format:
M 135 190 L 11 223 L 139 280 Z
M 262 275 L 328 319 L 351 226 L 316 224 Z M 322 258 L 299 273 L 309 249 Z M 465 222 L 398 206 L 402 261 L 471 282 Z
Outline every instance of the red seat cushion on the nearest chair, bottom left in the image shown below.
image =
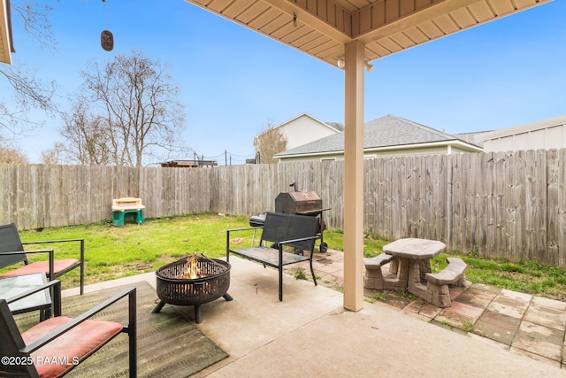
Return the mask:
M 73 318 L 58 316 L 37 324 L 21 334 L 24 343 L 29 345 L 48 335 L 53 330 L 65 325 Z M 40 377 L 59 377 L 95 352 L 112 337 L 118 335 L 122 325 L 114 321 L 86 320 L 65 334 L 58 336 L 32 356 Z

